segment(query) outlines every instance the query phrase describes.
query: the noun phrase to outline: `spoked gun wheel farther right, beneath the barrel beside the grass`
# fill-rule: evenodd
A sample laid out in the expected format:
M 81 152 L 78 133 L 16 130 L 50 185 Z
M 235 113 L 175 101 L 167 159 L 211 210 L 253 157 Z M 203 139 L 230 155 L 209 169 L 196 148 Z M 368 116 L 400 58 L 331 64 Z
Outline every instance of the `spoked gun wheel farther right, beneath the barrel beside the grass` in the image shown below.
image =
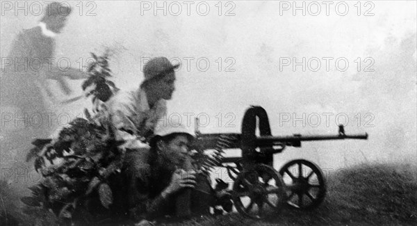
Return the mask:
M 311 161 L 295 159 L 279 170 L 287 187 L 287 204 L 295 209 L 313 209 L 325 198 L 326 181 L 322 170 Z

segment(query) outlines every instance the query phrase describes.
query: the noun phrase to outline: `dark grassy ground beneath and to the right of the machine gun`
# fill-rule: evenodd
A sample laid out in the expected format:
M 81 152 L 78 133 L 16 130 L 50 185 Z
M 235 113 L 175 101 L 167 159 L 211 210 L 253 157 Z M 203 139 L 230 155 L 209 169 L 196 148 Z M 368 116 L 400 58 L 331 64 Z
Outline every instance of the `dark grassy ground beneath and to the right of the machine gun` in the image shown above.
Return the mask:
M 325 201 L 312 211 L 287 208 L 262 221 L 234 213 L 177 225 L 417 225 L 416 166 L 360 165 L 338 170 L 327 183 Z M 1 184 L 0 194 L 0 225 L 55 224 L 51 213 L 28 216 L 17 209 L 18 195 L 7 184 Z

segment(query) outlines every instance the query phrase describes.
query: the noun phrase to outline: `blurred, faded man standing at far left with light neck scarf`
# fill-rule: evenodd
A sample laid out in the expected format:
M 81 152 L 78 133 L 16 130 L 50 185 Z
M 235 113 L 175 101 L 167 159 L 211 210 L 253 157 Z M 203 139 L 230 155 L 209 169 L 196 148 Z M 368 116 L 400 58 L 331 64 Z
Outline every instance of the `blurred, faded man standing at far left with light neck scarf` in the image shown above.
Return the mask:
M 3 60 L 0 76 L 0 108 L 14 120 L 1 125 L 1 160 L 22 161 L 33 138 L 47 138 L 51 134 L 47 99 L 54 99 L 48 80 L 54 79 L 61 90 L 71 93 L 64 77 L 85 79 L 87 74 L 54 65 L 54 38 L 63 30 L 71 8 L 59 2 L 49 3 L 38 26 L 20 32 L 10 53 Z M 19 152 L 19 153 L 18 153 Z M 23 154 L 24 153 L 24 154 Z

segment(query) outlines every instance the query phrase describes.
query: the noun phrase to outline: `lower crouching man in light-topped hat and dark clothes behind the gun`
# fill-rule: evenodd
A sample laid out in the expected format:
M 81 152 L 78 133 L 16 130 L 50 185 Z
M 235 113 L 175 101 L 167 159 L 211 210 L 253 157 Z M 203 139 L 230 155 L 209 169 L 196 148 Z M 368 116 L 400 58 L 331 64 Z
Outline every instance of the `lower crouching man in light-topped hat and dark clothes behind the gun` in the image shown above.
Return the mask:
M 126 175 L 131 184 L 126 201 L 135 220 L 177 216 L 176 197 L 197 185 L 191 166 L 190 143 L 194 136 L 183 124 L 160 121 L 150 149 L 128 152 Z

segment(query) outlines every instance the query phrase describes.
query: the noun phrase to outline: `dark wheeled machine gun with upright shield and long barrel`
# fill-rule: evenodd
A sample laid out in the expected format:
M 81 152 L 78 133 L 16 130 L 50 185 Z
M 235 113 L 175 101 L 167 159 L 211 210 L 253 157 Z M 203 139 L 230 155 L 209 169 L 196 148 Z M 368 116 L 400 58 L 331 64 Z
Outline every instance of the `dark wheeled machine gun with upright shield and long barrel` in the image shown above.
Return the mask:
M 256 136 L 256 129 L 259 129 L 260 136 Z M 277 171 L 273 168 L 274 154 L 287 146 L 301 147 L 302 141 L 368 139 L 366 133 L 345 134 L 343 125 L 339 126 L 338 134 L 331 136 L 272 136 L 268 115 L 261 106 L 247 109 L 242 134 L 201 134 L 198 129 L 196 134 L 193 148 L 197 152 L 217 151 L 201 164 L 202 168 L 227 168 L 229 177 L 234 180 L 231 193 L 237 211 L 258 219 L 265 217 L 264 208 L 268 206 L 275 211 L 285 204 L 295 209 L 312 209 L 324 200 L 326 194 L 325 176 L 315 163 L 295 159 Z M 228 149 L 240 149 L 242 156 L 224 157 L 224 150 Z M 249 204 L 245 206 L 246 202 Z

